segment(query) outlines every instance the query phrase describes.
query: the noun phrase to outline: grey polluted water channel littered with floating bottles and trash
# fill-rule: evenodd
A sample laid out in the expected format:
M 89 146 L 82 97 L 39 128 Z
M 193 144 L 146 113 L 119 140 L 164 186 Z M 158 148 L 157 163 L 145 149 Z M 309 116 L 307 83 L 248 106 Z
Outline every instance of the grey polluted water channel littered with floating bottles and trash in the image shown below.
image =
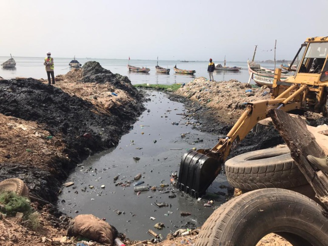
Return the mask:
M 183 154 L 194 147 L 212 148 L 218 136 L 194 129 L 201 122 L 185 118 L 182 103 L 161 92 L 146 93 L 150 99 L 144 104 L 146 110 L 130 132 L 117 147 L 79 164 L 67 179 L 74 184 L 63 186 L 58 200 L 58 208 L 67 215 L 94 214 L 133 240 L 151 239 L 149 229 L 166 238 L 179 228 L 202 226 L 214 208 L 226 201 L 228 192 L 224 174 L 201 200 L 171 184 Z M 138 174 L 141 177 L 135 180 Z M 137 182 L 142 184 L 134 186 Z M 142 186 L 147 190 L 134 191 Z M 148 189 L 153 186 L 155 191 Z M 210 200 L 211 206 L 204 205 Z M 161 229 L 154 227 L 156 223 Z

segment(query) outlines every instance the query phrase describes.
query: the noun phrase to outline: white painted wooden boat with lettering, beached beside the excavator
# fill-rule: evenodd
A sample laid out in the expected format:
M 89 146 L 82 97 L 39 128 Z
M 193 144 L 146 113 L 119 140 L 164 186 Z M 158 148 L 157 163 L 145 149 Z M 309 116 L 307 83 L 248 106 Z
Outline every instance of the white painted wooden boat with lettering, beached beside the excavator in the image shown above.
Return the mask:
M 271 87 L 274 79 L 274 71 L 266 69 L 255 62 L 247 61 L 248 72 L 250 78 L 252 78 L 255 83 L 259 86 L 269 86 Z M 291 75 L 281 74 L 281 80 L 287 79 Z

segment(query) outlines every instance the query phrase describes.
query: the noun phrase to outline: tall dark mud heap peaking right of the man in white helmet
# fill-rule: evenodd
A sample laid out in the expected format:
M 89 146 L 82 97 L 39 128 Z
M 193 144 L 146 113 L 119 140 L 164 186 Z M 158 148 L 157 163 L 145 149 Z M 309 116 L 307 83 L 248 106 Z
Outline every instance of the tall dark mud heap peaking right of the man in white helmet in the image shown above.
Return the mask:
M 113 74 L 109 70 L 101 67 L 98 62 L 86 62 L 82 69 L 82 82 L 99 84 L 108 82 L 117 89 L 129 92 L 133 97 L 140 96 L 137 89 L 132 86 L 131 81 L 127 78 L 127 76 Z

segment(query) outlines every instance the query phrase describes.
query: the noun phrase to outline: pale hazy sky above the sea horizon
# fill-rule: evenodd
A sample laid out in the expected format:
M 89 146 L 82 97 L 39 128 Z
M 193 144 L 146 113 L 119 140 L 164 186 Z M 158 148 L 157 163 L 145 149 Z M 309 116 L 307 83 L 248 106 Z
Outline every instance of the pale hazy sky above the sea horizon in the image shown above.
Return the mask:
M 0 56 L 292 59 L 328 36 L 327 0 L 0 0 Z M 272 51 L 269 51 L 271 50 Z

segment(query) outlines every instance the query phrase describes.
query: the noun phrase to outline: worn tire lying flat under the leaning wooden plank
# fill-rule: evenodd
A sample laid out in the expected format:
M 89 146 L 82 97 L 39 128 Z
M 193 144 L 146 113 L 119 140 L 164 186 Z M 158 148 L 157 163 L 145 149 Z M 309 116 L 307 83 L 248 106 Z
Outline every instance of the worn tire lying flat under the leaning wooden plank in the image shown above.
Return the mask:
M 308 184 L 289 148 L 256 150 L 235 156 L 225 163 L 231 186 L 242 190 L 284 188 Z

